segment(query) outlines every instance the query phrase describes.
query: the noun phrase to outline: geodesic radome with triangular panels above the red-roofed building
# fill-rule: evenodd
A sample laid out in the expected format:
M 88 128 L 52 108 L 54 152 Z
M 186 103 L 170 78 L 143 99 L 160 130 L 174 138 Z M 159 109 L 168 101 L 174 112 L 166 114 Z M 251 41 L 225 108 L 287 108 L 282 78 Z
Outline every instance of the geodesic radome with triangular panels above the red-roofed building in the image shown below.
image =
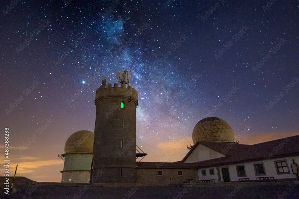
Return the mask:
M 234 142 L 231 126 L 221 118 L 208 117 L 199 121 L 192 132 L 193 144 L 197 141 Z

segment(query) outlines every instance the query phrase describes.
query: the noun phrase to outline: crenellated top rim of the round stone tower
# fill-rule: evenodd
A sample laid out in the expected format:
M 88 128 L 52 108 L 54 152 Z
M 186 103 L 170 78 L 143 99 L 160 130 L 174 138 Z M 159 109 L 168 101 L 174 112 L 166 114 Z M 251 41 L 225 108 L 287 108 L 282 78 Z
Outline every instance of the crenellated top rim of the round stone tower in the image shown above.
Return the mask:
M 97 101 L 105 98 L 123 98 L 138 103 L 138 92 L 131 86 L 126 88 L 126 84 L 121 84 L 121 87 L 118 86 L 118 83 L 115 83 L 114 87 L 111 84 L 107 84 L 107 87 L 102 85 L 97 89 L 94 103 L 97 104 Z

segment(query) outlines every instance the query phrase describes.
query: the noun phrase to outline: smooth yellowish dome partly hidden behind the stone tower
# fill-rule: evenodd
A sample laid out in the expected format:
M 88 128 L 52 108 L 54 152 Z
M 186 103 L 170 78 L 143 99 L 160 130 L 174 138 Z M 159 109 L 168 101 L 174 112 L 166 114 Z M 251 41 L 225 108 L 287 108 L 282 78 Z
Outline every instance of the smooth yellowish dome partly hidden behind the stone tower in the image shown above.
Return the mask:
M 90 131 L 74 132 L 65 142 L 64 153 L 92 153 L 94 133 Z

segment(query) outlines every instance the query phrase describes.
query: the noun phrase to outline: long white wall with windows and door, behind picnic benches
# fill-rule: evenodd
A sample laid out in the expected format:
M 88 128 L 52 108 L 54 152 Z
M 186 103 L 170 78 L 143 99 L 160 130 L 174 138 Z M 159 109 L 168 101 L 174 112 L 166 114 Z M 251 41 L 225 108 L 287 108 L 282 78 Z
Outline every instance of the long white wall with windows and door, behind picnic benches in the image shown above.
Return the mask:
M 295 162 L 297 163 L 297 165 L 299 166 L 299 156 L 275 158 L 275 159 L 270 159 L 270 160 L 265 159 L 263 161 L 254 161 L 254 162 L 246 162 L 246 163 L 220 166 L 219 170 L 220 170 L 221 181 L 223 181 L 223 175 L 222 175 L 222 169 L 221 169 L 223 167 L 228 167 L 231 181 L 239 181 L 239 178 L 249 178 L 249 180 L 256 180 L 256 177 L 275 177 L 274 179 L 296 178 L 296 174 L 293 174 L 293 172 L 292 172 L 292 167 L 291 167 L 291 163 L 293 163 L 292 159 L 294 159 Z M 280 161 L 280 160 L 287 161 L 288 169 L 290 172 L 289 174 L 277 174 L 275 161 Z M 258 176 L 255 175 L 254 163 L 263 163 L 266 175 L 258 175 Z M 236 166 L 239 166 L 239 165 L 244 165 L 245 173 L 246 173 L 245 177 L 238 177 Z M 210 168 L 216 168 L 216 167 L 210 167 Z M 213 178 L 211 178 L 211 176 L 208 173 L 210 168 L 205 168 L 206 172 L 207 172 L 206 176 L 201 176 L 202 169 L 198 169 L 199 178 L 202 178 L 203 180 L 213 179 Z M 215 175 L 216 175 L 216 173 L 215 173 Z

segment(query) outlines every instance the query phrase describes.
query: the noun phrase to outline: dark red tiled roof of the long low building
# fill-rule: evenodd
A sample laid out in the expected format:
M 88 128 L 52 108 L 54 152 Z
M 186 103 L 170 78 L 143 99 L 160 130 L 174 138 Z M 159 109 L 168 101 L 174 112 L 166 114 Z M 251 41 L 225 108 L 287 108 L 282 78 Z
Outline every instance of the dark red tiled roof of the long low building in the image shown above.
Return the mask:
M 223 153 L 226 155 L 226 157 L 200 161 L 196 163 L 182 163 L 182 161 L 184 161 L 190 155 L 190 153 L 198 144 L 203 144 L 219 153 Z M 230 150 L 226 153 L 225 147 L 230 148 Z M 198 169 L 209 166 L 221 166 L 249 161 L 263 161 L 266 160 L 266 157 L 269 159 L 270 156 L 271 159 L 273 159 L 295 155 L 299 155 L 299 135 L 254 145 L 234 143 L 231 143 L 230 145 L 229 143 L 225 142 L 198 141 L 182 161 L 173 163 L 137 162 L 136 165 L 138 168 Z

